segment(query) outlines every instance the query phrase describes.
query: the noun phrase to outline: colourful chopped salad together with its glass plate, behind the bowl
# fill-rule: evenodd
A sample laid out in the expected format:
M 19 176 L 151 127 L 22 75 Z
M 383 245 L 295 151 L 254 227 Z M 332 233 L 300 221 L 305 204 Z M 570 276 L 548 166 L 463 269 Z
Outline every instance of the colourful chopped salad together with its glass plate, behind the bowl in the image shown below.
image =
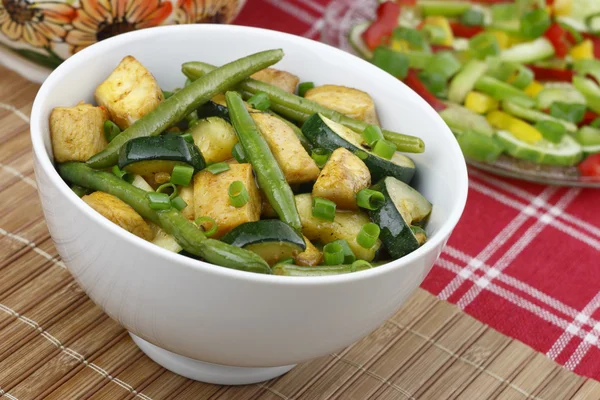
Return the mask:
M 335 0 L 322 40 L 411 87 L 469 164 L 600 188 L 600 1 Z

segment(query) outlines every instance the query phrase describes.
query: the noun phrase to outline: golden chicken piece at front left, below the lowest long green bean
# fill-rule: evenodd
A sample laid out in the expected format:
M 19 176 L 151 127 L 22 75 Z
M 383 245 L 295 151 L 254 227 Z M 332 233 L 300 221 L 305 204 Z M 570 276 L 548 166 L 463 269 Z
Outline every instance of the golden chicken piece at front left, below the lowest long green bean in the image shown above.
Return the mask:
M 140 214 L 118 197 L 104 192 L 94 192 L 81 198 L 90 207 L 121 228 L 145 240 L 152 240 L 154 233 Z

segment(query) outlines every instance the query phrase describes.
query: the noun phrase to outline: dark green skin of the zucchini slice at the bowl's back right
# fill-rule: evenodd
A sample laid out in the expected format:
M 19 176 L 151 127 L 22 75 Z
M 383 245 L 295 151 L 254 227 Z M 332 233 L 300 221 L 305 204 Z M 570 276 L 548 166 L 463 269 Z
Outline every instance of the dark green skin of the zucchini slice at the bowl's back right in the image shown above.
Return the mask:
M 313 114 L 304 122 L 302 133 L 311 142 L 313 148 L 321 147 L 329 151 L 334 151 L 337 148 L 344 147 L 355 154 L 358 151 L 362 151 L 366 154 L 366 158 L 363 161 L 367 168 L 369 168 L 369 171 L 371 171 L 371 178 L 375 181 L 386 176 L 393 176 L 403 182 L 410 183 L 415 174 L 414 167 L 410 168 L 394 164 L 390 160 L 378 157 L 366 149 L 358 148 L 353 143 L 342 138 L 327 126 L 319 114 Z

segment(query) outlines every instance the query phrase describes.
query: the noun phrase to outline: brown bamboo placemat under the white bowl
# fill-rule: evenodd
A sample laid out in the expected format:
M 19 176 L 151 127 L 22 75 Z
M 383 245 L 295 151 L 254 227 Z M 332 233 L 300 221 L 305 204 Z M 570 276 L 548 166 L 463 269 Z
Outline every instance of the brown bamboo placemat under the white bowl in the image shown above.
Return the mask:
M 28 115 L 38 88 L 0 67 L 0 398 L 600 398 L 600 383 L 421 289 L 370 336 L 268 382 L 226 387 L 166 371 L 56 253 L 33 180 Z

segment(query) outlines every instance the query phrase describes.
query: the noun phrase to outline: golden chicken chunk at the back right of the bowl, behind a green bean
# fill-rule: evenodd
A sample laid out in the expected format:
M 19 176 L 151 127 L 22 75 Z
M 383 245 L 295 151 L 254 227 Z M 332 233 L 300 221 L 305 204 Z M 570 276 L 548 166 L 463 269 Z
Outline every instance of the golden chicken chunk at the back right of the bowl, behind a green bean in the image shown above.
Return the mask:
M 305 98 L 350 118 L 379 125 L 375 103 L 368 93 L 345 86 L 323 85 L 306 92 Z

